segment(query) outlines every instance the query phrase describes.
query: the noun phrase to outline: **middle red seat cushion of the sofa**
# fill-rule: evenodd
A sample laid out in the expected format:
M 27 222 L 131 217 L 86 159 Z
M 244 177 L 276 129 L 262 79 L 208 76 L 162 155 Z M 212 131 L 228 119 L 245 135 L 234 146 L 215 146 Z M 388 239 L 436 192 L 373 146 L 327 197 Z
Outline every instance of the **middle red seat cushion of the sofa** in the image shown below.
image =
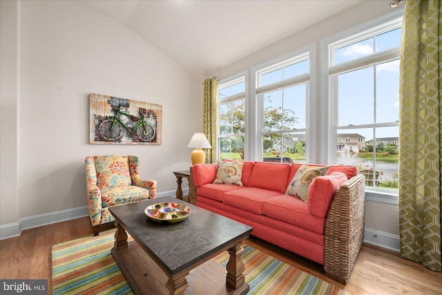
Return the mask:
M 280 195 L 278 191 L 245 187 L 224 193 L 222 202 L 233 207 L 262 214 L 262 201 L 278 195 Z

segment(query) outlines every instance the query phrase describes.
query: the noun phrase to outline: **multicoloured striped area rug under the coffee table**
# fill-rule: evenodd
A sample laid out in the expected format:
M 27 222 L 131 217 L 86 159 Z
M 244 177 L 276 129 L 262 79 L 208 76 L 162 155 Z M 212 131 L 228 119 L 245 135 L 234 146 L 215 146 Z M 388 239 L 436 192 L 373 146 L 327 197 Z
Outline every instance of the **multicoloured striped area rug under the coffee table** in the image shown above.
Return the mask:
M 52 294 L 132 294 L 111 255 L 114 234 L 111 230 L 53 246 Z M 225 267 L 229 254 L 215 260 Z M 242 260 L 247 294 L 348 294 L 247 245 Z

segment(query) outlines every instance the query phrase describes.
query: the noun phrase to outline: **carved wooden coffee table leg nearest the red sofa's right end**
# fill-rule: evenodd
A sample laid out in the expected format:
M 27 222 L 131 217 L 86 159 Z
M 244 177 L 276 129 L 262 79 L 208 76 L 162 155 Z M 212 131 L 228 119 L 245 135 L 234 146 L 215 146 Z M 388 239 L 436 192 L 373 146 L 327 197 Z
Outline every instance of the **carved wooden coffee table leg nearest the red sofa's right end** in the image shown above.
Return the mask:
M 240 294 L 244 294 L 249 291 L 249 284 L 246 283 L 244 278 L 244 263 L 241 259 L 242 251 L 244 251 L 242 248 L 243 242 L 243 240 L 238 242 L 235 246 L 228 250 L 230 258 L 226 266 L 226 283 L 235 289 L 240 289 Z

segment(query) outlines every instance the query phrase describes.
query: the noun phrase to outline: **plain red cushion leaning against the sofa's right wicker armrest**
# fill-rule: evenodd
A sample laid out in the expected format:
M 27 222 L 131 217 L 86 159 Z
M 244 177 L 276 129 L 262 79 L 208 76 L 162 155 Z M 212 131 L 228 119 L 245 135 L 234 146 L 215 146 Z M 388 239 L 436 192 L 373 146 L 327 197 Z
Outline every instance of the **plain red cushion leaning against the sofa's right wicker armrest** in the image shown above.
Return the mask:
M 314 216 L 325 217 L 340 186 L 347 181 L 343 172 L 317 177 L 309 188 L 309 211 Z

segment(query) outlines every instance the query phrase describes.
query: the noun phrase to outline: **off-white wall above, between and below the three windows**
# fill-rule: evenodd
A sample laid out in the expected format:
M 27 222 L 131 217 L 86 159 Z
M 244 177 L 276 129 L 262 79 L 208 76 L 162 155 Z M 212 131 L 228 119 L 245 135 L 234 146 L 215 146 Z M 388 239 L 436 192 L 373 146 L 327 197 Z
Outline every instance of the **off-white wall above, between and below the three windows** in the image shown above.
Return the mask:
M 317 53 L 319 54 L 321 39 L 392 12 L 392 8 L 390 8 L 388 3 L 388 1 L 365 1 L 351 10 L 347 10 L 322 23 L 318 23 L 316 26 L 312 26 L 308 30 L 299 32 L 272 46 L 253 53 L 241 61 L 211 73 L 207 77 L 217 75 L 220 79 L 224 79 L 309 44 L 316 44 Z M 317 63 L 317 71 L 320 73 L 320 62 Z M 316 91 L 318 97 L 316 97 L 316 99 L 318 99 L 318 101 L 316 105 L 320 106 L 319 75 L 317 79 L 318 87 Z M 320 117 L 319 108 L 316 109 L 316 117 Z M 318 140 L 316 140 L 316 142 L 318 142 Z M 319 157 L 319 149 L 317 153 L 317 157 Z M 397 205 L 366 200 L 365 229 L 365 240 L 367 242 L 383 245 L 391 249 L 398 249 L 399 228 Z M 376 238 L 374 236 L 376 236 Z

